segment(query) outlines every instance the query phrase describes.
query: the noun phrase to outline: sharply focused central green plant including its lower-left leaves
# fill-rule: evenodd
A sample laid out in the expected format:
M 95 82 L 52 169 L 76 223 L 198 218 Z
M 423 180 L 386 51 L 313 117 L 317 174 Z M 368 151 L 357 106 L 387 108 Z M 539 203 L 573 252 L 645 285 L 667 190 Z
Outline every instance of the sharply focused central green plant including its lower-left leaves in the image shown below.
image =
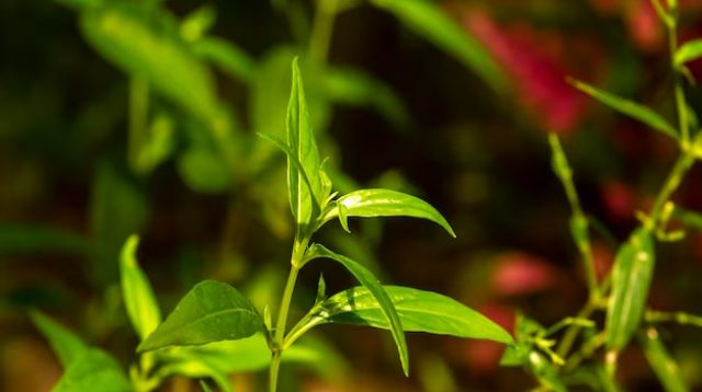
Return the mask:
M 287 155 L 288 199 L 295 224 L 291 269 L 275 324 L 268 308 L 261 315 L 237 289 L 214 280 L 195 285 L 161 321 L 151 286 L 135 258 L 138 240 L 132 237 L 122 251 L 121 276 L 127 315 L 140 341 L 139 360 L 132 366 L 127 381 L 110 355 L 87 346 L 46 316 L 34 313 L 34 322 L 66 368 L 57 390 L 79 391 L 100 382 L 104 390 L 150 391 L 170 376 L 184 374 L 213 378 L 229 391 L 227 373 L 268 366 L 269 390 L 276 391 L 281 361 L 296 360 L 295 348 L 299 346 L 294 344 L 313 327 L 326 323 L 389 330 L 405 374 L 409 372 L 405 331 L 512 343 L 501 327 L 455 300 L 408 287 L 383 286 L 362 264 L 312 242 L 313 235 L 330 220 L 338 219 L 350 231 L 350 217 L 422 218 L 455 234 L 441 214 L 417 197 L 380 188 L 340 197 L 332 193 L 332 183 L 325 173 L 326 160 L 320 158 L 312 131 L 297 60 L 293 61 L 286 129 L 286 141 L 263 136 Z M 287 316 L 298 273 L 318 258 L 341 264 L 361 286 L 327 296 L 320 277 L 314 305 L 288 330 Z

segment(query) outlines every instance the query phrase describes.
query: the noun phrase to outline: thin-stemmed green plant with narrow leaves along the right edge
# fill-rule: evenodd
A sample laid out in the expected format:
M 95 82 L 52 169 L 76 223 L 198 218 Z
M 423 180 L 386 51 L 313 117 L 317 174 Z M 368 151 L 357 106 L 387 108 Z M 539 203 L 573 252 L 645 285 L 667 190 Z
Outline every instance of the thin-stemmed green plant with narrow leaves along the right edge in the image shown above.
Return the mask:
M 675 322 L 699 326 L 702 325 L 700 318 L 683 312 L 655 311 L 648 308 L 647 299 L 657 258 L 655 243 L 675 242 L 684 237 L 683 231 L 668 228 L 673 217 L 683 217 L 682 222 L 690 224 L 697 216 L 677 206 L 671 198 L 693 163 L 702 159 L 702 132 L 683 92 L 684 77 L 691 78 L 686 62 L 702 57 L 702 41 L 694 39 L 679 46 L 677 1 L 669 0 L 664 4 L 661 0 L 653 0 L 653 4 L 669 35 L 677 126 L 644 105 L 580 81 L 573 80 L 571 83 L 614 111 L 672 139 L 680 153 L 650 210 L 637 214 L 641 224 L 619 246 L 612 270 L 598 281 L 590 242 L 590 218 L 580 206 L 573 171 L 561 142 L 555 134 L 550 135 L 553 170 L 570 204 L 570 234 L 580 253 L 589 297 L 577 314 L 550 327 L 523 315 L 518 318 L 517 344 L 505 353 L 502 365 L 524 367 L 544 391 L 566 391 L 580 384 L 595 390 L 621 390 L 615 377 L 619 358 L 632 341 L 638 342 L 666 391 L 690 390 L 660 339 L 658 324 Z M 603 325 L 597 323 L 598 312 L 604 313 Z

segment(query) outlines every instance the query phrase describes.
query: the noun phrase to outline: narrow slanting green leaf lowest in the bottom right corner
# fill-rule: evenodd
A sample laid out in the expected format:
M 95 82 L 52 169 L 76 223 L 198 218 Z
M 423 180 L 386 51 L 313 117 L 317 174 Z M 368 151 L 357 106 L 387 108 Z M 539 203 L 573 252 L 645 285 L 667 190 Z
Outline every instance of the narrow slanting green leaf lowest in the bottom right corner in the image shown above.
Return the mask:
M 644 354 L 648 364 L 656 372 L 658 380 L 666 392 L 686 392 L 690 388 L 686 384 L 678 364 L 670 357 L 668 350 L 660 342 L 658 331 L 650 327 L 645 334 L 639 335 Z

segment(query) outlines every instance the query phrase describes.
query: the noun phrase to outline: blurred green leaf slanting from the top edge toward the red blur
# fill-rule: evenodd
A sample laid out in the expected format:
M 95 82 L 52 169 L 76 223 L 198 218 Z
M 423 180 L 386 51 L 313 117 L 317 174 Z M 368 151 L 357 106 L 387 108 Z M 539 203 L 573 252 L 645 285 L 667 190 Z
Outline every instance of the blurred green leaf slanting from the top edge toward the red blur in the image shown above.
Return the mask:
M 502 71 L 489 53 L 438 3 L 428 0 L 372 0 L 371 3 L 390 12 L 417 34 L 454 56 L 495 90 L 506 89 Z

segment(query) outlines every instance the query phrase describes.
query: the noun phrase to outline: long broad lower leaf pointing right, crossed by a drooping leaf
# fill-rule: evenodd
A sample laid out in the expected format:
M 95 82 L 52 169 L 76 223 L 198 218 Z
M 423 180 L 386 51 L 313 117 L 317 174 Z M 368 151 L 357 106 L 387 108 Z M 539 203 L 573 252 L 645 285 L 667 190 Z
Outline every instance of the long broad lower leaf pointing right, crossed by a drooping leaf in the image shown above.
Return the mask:
M 389 296 L 405 332 L 426 332 L 488 339 L 505 344 L 512 337 L 499 325 L 456 300 L 432 291 L 409 287 L 383 286 Z M 373 293 L 354 287 L 326 299 L 310 312 L 318 323 L 369 325 L 389 328 L 387 318 Z

